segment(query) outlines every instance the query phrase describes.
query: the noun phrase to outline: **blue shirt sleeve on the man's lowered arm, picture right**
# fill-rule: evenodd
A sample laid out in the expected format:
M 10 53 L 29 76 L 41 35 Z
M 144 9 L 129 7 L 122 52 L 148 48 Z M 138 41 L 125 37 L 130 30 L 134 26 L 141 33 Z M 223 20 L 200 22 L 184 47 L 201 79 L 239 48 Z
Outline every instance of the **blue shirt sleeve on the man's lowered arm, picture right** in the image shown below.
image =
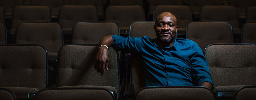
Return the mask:
M 200 86 L 205 81 L 208 81 L 213 85 L 207 59 L 197 43 L 194 43 L 191 47 L 190 64 L 193 73 L 193 81 L 196 85 Z

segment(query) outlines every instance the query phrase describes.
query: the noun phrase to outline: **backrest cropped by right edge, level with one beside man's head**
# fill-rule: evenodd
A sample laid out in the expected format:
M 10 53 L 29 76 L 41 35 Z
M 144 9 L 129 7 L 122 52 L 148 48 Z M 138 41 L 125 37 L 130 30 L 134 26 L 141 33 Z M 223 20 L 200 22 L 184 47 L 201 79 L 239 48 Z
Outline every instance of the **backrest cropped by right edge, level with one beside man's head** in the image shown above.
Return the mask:
M 245 23 L 242 27 L 242 43 L 253 43 L 256 44 L 255 34 L 256 23 Z

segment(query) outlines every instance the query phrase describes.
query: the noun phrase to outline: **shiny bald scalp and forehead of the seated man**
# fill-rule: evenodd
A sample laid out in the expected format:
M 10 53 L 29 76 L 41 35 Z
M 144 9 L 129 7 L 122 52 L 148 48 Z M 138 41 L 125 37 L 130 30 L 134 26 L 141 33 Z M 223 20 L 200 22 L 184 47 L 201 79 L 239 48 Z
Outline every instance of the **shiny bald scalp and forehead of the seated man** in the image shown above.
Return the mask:
M 170 13 L 170 12 L 162 12 L 162 13 L 160 13 L 160 14 L 156 17 L 156 23 L 155 23 L 155 25 L 156 25 L 156 24 L 158 23 L 158 21 L 159 21 L 160 19 L 162 19 L 163 17 L 170 17 L 170 18 L 172 19 L 172 21 L 173 21 L 174 23 L 176 23 L 176 25 L 178 25 L 176 17 L 175 17 L 172 13 Z

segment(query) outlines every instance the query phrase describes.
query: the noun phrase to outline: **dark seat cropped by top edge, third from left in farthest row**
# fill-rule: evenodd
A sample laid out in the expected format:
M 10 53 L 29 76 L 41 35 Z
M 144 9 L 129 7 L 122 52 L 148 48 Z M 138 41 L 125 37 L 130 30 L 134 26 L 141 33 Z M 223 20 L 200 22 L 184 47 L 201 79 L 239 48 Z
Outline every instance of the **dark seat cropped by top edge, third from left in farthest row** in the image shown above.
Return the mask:
M 70 0 L 71 5 L 91 5 L 97 8 L 98 19 L 104 21 L 104 6 L 102 0 Z

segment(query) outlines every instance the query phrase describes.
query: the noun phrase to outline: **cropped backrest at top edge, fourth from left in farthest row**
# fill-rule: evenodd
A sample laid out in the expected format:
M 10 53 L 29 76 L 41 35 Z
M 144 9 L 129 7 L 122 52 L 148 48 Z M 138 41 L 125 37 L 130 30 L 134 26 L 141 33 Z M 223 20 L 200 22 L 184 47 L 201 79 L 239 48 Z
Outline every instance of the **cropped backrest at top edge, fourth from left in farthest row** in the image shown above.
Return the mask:
M 109 0 L 109 5 L 139 5 L 143 7 L 143 0 Z

